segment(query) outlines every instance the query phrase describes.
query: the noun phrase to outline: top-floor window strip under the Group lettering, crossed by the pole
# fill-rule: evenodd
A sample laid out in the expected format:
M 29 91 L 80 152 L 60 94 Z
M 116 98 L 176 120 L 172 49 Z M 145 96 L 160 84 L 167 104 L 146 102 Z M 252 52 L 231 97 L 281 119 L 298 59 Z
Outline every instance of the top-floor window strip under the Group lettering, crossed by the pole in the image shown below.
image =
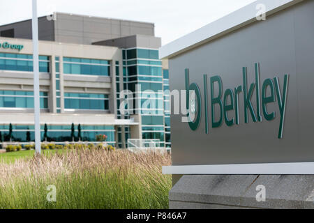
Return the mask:
M 33 72 L 33 55 L 0 53 L 0 70 Z M 48 56 L 39 56 L 39 72 L 49 72 Z

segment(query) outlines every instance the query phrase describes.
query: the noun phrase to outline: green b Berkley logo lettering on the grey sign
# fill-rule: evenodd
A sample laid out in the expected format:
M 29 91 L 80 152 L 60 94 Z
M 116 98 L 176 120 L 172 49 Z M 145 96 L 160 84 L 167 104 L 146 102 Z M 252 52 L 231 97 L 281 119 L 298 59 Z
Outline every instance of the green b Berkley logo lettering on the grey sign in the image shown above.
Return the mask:
M 243 85 L 237 86 L 234 89 L 226 89 L 223 93 L 223 81 L 220 76 L 216 75 L 210 78 L 210 89 L 211 89 L 211 127 L 218 128 L 223 124 L 223 119 L 227 126 L 239 125 L 239 93 L 243 92 L 244 100 L 244 122 L 248 123 L 249 114 L 253 122 L 261 122 L 262 115 L 267 121 L 271 121 L 276 118 L 275 112 L 267 111 L 267 104 L 271 102 L 276 102 L 279 108 L 279 115 L 281 117 L 278 139 L 283 137 L 283 123 L 285 120 L 285 105 L 287 101 L 287 87 L 289 82 L 289 75 L 284 75 L 283 79 L 283 91 L 281 92 L 279 79 L 274 77 L 274 79 L 265 79 L 262 84 L 262 91 L 260 92 L 260 65 L 255 63 L 255 83 L 250 86 L 247 84 L 247 68 L 242 68 L 243 74 Z M 193 105 L 193 110 L 197 111 L 194 120 L 190 120 L 188 125 L 191 130 L 197 130 L 200 125 L 200 117 L 202 113 L 202 100 L 200 88 L 197 84 L 190 84 L 188 69 L 185 70 L 186 76 L 186 109 L 188 109 L 189 104 Z M 207 111 L 207 75 L 204 75 L 204 116 L 205 116 L 205 132 L 208 133 L 208 111 Z M 214 83 L 216 86 L 218 84 L 218 95 L 214 95 Z M 270 89 L 270 95 L 267 95 L 266 91 Z M 197 109 L 195 109 L 195 102 L 189 103 L 189 91 L 195 92 L 195 100 Z M 253 92 L 256 92 L 256 109 L 253 108 L 251 98 Z M 262 98 L 262 100 L 261 100 Z M 229 100 L 230 99 L 230 100 Z M 220 114 L 215 113 L 215 105 L 218 105 Z M 192 107 L 192 106 L 191 106 Z M 256 110 L 256 113 L 255 113 Z M 227 112 L 234 111 L 234 118 L 229 118 Z M 189 116 L 189 115 L 188 115 Z M 189 118 L 191 119 L 191 118 Z

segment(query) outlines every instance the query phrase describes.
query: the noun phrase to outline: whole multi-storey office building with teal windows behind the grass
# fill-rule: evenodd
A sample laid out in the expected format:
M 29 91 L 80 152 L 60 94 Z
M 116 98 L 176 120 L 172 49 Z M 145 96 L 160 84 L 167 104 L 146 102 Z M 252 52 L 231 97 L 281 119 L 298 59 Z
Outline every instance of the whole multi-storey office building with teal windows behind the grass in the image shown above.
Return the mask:
M 39 21 L 42 140 L 96 141 L 106 134 L 117 148 L 137 141 L 171 146 L 163 93 L 169 75 L 159 60 L 154 24 L 64 13 Z M 2 142 L 34 140 L 29 22 L 0 26 L 6 36 L 0 37 Z

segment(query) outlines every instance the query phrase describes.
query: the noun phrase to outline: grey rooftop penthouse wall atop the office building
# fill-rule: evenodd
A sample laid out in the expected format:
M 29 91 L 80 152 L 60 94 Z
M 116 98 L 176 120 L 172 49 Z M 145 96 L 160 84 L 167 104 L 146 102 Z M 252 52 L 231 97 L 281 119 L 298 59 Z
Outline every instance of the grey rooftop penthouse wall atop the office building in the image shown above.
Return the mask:
M 39 40 L 89 45 L 100 40 L 135 34 L 155 35 L 154 24 L 149 22 L 116 20 L 69 13 L 55 13 L 54 15 L 53 20 L 49 16 L 38 18 Z M 0 26 L 0 31 L 6 29 L 14 29 L 15 38 L 31 39 L 31 20 Z

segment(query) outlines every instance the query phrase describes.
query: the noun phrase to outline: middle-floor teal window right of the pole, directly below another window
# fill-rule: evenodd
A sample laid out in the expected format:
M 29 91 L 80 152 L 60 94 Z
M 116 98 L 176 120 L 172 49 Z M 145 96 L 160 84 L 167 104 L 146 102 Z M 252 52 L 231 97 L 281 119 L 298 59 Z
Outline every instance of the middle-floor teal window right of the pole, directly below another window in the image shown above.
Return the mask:
M 108 110 L 109 95 L 97 93 L 64 93 L 65 109 Z

